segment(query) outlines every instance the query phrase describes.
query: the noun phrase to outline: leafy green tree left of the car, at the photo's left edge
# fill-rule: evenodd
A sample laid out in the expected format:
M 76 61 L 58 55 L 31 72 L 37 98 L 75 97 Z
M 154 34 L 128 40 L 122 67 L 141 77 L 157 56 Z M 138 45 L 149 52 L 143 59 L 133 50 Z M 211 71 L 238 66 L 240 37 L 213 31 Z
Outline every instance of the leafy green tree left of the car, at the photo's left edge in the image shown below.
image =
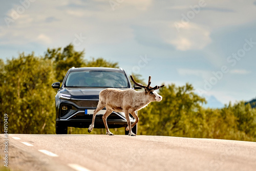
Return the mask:
M 9 133 L 54 133 L 52 62 L 22 53 L 17 59 L 7 60 L 3 73 L 0 110 L 1 115 L 8 114 Z

